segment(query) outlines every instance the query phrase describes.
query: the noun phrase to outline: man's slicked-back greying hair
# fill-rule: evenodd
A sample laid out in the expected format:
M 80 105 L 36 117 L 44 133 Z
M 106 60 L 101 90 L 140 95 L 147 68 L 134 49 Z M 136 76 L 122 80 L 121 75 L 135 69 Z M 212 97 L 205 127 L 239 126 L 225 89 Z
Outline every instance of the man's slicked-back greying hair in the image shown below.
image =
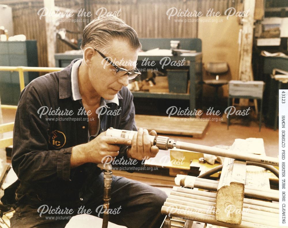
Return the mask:
M 116 16 L 101 16 L 92 20 L 83 30 L 81 49 L 91 46 L 107 51 L 113 39 L 128 41 L 133 49 L 141 49 L 136 31 Z

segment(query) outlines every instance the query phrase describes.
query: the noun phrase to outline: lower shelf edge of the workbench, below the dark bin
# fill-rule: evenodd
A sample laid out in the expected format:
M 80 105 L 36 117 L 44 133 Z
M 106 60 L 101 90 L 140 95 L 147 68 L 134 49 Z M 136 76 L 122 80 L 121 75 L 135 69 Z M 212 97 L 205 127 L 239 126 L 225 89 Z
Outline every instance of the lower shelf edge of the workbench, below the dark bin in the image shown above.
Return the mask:
M 141 98 L 168 98 L 168 99 L 190 100 L 190 94 L 187 93 L 132 92 L 132 94 L 134 97 L 141 97 Z

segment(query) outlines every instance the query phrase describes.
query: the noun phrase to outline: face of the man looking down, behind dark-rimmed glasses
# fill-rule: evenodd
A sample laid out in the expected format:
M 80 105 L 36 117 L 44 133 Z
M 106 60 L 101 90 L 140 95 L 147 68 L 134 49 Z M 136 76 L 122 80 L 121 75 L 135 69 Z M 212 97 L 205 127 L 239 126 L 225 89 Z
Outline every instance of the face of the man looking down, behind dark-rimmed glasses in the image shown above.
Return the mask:
M 127 70 L 136 68 L 138 50 L 132 49 L 125 40 L 115 39 L 109 49 L 103 53 L 114 64 Z M 115 75 L 116 69 L 95 51 L 89 68 L 89 79 L 97 94 L 106 100 L 112 100 L 115 95 L 128 85 L 128 75 Z M 123 73 L 121 74 L 123 75 Z

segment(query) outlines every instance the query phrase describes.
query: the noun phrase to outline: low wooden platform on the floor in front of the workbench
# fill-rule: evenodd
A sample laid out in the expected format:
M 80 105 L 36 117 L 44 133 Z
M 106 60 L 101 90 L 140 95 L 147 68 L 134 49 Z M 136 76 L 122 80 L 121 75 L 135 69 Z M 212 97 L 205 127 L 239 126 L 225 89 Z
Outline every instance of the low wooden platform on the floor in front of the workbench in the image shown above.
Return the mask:
M 137 127 L 155 130 L 158 134 L 187 135 L 202 138 L 209 121 L 195 118 L 135 115 Z

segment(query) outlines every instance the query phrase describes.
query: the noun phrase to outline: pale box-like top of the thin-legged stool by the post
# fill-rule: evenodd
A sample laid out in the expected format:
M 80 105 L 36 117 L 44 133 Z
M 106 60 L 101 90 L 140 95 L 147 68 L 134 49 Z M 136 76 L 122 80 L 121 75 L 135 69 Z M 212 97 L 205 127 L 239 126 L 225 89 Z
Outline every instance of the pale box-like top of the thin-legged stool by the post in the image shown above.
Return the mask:
M 263 81 L 229 81 L 229 95 L 231 96 L 251 96 L 262 98 L 264 91 Z

